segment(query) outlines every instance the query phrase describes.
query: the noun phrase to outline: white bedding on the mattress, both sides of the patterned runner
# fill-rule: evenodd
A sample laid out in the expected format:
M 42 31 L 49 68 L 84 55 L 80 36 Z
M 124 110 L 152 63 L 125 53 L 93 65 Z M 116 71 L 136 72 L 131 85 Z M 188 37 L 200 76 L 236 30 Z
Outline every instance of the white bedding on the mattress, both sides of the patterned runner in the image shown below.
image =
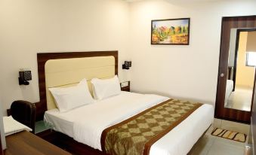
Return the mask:
M 45 121 L 53 124 L 54 130 L 63 132 L 76 141 L 102 150 L 100 135 L 103 129 L 167 99 L 167 97 L 152 94 L 122 92 L 119 96 L 103 99 L 72 111 L 64 113 L 60 113 L 57 109 L 46 111 Z M 150 155 L 187 154 L 193 144 L 211 125 L 213 118 L 213 106 L 202 105 L 171 132 L 156 141 L 150 149 Z

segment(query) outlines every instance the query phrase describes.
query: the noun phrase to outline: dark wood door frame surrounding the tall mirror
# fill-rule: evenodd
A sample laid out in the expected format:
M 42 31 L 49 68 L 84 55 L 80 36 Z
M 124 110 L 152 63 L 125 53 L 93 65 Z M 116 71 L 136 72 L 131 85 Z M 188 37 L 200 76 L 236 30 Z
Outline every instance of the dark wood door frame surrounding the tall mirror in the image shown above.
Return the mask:
M 230 47 L 230 29 L 239 28 L 255 28 L 256 16 L 247 17 L 223 17 L 221 26 L 221 50 L 219 59 L 219 71 L 217 80 L 217 94 L 214 117 L 233 120 L 242 123 L 250 123 L 251 111 L 240 111 L 231 108 L 224 107 L 225 91 L 227 84 L 227 76 L 221 76 L 221 74 L 227 75 L 228 56 Z M 236 71 L 236 68 L 234 68 Z M 236 79 L 234 74 L 233 79 Z M 253 104 L 251 104 L 252 107 Z

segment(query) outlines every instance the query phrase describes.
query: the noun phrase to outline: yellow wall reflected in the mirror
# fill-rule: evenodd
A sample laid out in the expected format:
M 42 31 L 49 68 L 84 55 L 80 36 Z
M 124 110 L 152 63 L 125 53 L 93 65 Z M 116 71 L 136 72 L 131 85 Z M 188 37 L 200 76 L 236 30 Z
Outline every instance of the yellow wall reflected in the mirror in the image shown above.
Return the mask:
M 236 87 L 252 89 L 254 85 L 254 67 L 246 66 L 246 44 L 248 44 L 248 33 L 240 32 L 239 49 L 237 52 L 236 65 Z

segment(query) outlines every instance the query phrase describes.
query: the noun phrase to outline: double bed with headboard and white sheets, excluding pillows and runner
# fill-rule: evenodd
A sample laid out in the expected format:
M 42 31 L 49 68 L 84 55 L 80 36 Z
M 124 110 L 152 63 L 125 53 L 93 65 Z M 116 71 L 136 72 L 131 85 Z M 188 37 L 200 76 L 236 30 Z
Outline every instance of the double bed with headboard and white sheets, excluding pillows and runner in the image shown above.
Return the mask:
M 102 132 L 106 128 L 129 117 L 134 117 L 147 108 L 169 101 L 168 97 L 165 96 L 122 92 L 118 96 L 112 96 L 94 104 L 61 113 L 58 111 L 48 88 L 70 87 L 77 84 L 82 78 L 86 78 L 91 91 L 92 78 L 111 78 L 117 74 L 118 70 L 117 51 L 82 53 L 82 56 L 79 53 L 75 53 L 76 56 L 73 54 L 38 54 L 39 60 L 44 59 L 38 61 L 40 66 L 39 83 L 43 83 L 39 85 L 40 98 L 42 97 L 41 100 L 45 101 L 40 103 L 42 107 L 45 107 L 45 121 L 51 123 L 57 132 L 78 141 L 80 150 L 83 149 L 82 147 L 88 148 L 89 146 L 97 150 L 97 153 L 102 153 L 101 138 Z M 150 147 L 149 154 L 187 154 L 205 130 L 211 126 L 213 117 L 212 105 L 200 106 L 181 123 L 174 126 L 170 132 L 154 142 Z

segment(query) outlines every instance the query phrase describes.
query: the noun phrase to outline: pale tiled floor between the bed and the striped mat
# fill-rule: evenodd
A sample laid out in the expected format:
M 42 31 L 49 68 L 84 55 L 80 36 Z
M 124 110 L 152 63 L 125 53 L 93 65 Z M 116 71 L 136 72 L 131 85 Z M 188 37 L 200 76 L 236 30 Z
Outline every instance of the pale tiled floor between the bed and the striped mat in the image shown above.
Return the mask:
M 212 126 L 208 129 L 189 155 L 243 155 L 245 143 L 213 136 L 211 135 L 213 129 Z

